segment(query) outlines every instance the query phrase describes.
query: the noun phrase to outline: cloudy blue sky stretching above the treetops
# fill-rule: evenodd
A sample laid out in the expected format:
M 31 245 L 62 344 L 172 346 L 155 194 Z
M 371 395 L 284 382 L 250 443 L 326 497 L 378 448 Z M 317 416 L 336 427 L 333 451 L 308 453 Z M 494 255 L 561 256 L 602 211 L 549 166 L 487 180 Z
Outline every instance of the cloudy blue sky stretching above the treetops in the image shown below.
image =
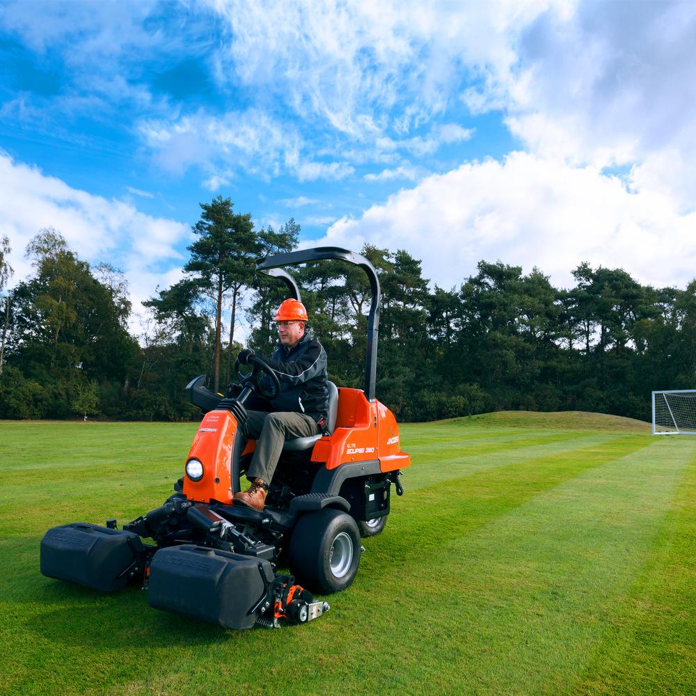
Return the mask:
M 696 5 L 0 0 L 0 235 L 54 226 L 136 306 L 198 203 L 303 243 L 693 278 Z M 140 311 L 140 309 L 139 309 Z

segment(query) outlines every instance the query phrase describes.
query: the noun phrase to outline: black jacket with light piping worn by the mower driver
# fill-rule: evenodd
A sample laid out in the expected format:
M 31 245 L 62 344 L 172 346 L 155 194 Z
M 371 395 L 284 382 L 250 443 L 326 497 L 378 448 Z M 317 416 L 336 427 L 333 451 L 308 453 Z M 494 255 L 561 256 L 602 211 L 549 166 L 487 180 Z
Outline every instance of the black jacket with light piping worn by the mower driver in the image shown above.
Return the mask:
M 282 343 L 271 358 L 265 358 L 280 381 L 280 394 L 270 402 L 273 411 L 306 413 L 319 423 L 329 411 L 329 387 L 326 382 L 326 351 L 308 333 L 288 349 Z M 268 404 L 268 402 L 266 402 Z M 251 408 L 262 409 L 253 400 Z M 264 409 L 266 410 L 266 409 Z

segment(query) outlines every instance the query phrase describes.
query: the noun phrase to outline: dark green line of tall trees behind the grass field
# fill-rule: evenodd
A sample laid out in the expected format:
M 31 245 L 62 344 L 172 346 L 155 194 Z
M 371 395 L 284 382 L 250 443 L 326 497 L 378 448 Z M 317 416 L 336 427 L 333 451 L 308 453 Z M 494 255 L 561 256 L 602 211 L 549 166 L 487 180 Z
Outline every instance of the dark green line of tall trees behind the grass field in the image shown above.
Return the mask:
M 255 264 L 297 248 L 300 226 L 257 229 L 219 196 L 201 204 L 193 232 L 182 280 L 143 303 L 138 338 L 118 269 L 81 260 L 48 228 L 26 248 L 31 277 L 9 290 L 10 242 L 0 239 L 0 418 L 195 419 L 184 386 L 205 372 L 211 388 L 225 390 L 242 317 L 253 326 L 247 345 L 270 354 L 286 295 Z M 447 289 L 431 286 L 404 249 L 361 253 L 383 295 L 377 397 L 400 420 L 507 409 L 649 420 L 651 390 L 696 386 L 696 281 L 654 288 L 622 269 L 581 263 L 574 287 L 560 289 L 540 269 L 481 261 Z M 365 274 L 317 262 L 294 275 L 330 379 L 361 387 Z

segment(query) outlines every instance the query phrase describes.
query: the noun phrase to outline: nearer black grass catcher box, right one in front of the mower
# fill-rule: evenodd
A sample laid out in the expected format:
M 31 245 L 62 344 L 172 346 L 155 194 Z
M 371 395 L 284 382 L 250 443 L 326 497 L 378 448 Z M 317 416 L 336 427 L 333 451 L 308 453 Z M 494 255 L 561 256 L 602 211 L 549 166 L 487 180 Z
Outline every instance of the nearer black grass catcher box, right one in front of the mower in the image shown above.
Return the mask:
M 273 603 L 273 568 L 263 558 L 204 546 L 161 548 L 150 565 L 148 601 L 224 628 L 252 628 Z

